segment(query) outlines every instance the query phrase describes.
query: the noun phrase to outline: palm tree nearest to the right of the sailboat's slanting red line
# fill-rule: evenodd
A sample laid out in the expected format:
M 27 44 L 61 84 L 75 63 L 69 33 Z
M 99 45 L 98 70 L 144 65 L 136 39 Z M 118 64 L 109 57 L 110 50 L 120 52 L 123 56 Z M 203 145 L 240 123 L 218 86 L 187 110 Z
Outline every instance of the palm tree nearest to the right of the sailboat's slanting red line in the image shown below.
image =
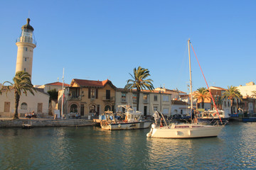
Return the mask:
M 231 102 L 231 114 L 233 114 L 233 101 L 237 100 L 237 108 L 238 108 L 238 99 L 242 101 L 242 95 L 240 94 L 240 91 L 235 86 L 228 86 L 228 90 L 223 93 L 223 96 L 221 96 L 222 99 L 228 98 Z

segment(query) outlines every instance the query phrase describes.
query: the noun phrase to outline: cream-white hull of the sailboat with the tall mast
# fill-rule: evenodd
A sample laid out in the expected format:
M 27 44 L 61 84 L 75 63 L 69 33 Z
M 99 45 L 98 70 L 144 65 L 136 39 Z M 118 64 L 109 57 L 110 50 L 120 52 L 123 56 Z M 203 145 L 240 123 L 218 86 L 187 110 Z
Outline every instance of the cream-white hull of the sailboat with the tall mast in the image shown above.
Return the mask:
M 179 125 L 177 127 L 155 127 L 152 125 L 147 137 L 159 138 L 197 138 L 197 137 L 216 137 L 223 128 L 221 125 Z

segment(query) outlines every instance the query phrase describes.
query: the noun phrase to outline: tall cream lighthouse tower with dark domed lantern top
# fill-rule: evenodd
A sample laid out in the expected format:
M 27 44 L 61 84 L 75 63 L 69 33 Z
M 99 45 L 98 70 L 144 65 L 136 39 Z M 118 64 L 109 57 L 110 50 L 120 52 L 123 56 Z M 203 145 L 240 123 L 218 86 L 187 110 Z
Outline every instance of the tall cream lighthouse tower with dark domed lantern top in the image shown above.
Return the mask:
M 21 27 L 21 35 L 16 40 L 18 46 L 16 72 L 24 71 L 32 77 L 33 49 L 36 47 L 36 40 L 33 36 L 33 27 L 29 25 L 27 18 L 26 25 Z

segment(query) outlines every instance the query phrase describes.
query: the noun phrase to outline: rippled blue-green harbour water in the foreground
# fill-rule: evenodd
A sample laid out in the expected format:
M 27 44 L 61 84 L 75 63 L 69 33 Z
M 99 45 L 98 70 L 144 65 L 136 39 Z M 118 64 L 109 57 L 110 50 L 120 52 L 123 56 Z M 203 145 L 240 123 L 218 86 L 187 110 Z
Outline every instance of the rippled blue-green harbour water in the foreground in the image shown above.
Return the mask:
M 0 129 L 0 169 L 256 169 L 256 123 L 218 137 L 147 138 L 97 127 Z

